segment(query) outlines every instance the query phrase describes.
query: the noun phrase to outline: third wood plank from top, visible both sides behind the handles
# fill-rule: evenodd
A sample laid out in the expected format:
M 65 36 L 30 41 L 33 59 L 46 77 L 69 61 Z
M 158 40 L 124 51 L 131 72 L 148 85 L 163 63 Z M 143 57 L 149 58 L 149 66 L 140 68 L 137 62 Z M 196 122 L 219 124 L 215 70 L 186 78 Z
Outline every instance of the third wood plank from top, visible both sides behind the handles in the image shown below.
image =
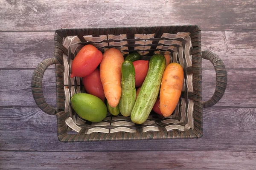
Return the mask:
M 33 70 L 0 70 L 0 106 L 35 106 L 31 92 Z M 255 107 L 256 70 L 228 70 L 227 90 L 216 106 Z M 215 91 L 215 70 L 203 70 L 202 99 L 208 100 Z M 11 78 L 10 78 L 11 77 Z M 44 96 L 56 105 L 55 70 L 47 70 L 43 79 Z

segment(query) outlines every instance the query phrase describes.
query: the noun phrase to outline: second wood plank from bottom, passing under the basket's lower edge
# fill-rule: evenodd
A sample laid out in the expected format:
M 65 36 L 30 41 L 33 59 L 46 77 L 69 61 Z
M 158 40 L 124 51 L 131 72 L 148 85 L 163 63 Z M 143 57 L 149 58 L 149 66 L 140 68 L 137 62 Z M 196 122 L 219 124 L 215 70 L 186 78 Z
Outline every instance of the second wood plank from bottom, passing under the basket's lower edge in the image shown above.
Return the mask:
M 0 150 L 221 150 L 256 152 L 256 108 L 204 109 L 200 139 L 59 142 L 55 116 L 39 108 L 0 108 Z M 184 156 L 186 157 L 186 156 Z

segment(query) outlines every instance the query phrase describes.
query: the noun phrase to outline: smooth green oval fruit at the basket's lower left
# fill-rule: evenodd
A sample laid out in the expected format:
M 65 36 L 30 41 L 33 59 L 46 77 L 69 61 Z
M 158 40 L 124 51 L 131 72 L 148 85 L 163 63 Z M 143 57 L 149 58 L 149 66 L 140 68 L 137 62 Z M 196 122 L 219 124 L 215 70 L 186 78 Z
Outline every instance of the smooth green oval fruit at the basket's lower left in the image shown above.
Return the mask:
M 101 99 L 86 93 L 72 96 L 71 105 L 81 118 L 90 122 L 101 122 L 108 112 L 107 106 Z

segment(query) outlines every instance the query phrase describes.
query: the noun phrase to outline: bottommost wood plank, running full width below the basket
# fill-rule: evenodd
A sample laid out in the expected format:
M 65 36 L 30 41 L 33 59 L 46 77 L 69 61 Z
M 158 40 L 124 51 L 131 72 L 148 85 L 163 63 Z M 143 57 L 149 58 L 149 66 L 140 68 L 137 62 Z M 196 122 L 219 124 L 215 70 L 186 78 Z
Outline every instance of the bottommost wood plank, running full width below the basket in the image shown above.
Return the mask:
M 254 170 L 255 160 L 256 153 L 221 151 L 0 152 L 0 168 L 33 170 Z

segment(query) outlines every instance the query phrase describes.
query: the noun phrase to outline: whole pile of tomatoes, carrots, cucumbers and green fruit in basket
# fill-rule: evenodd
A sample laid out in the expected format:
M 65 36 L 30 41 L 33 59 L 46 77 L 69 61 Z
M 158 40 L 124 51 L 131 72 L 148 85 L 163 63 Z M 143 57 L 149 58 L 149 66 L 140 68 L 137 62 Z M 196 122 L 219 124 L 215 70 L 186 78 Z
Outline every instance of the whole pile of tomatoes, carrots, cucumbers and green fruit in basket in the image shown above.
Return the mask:
M 72 62 L 70 77 L 82 77 L 87 94 L 72 96 L 71 105 L 91 122 L 105 119 L 107 111 L 131 116 L 136 124 L 144 123 L 152 110 L 168 117 L 179 101 L 183 74 L 168 54 L 154 54 L 145 61 L 134 52 L 124 59 L 116 48 L 102 55 L 93 45 L 85 45 Z

